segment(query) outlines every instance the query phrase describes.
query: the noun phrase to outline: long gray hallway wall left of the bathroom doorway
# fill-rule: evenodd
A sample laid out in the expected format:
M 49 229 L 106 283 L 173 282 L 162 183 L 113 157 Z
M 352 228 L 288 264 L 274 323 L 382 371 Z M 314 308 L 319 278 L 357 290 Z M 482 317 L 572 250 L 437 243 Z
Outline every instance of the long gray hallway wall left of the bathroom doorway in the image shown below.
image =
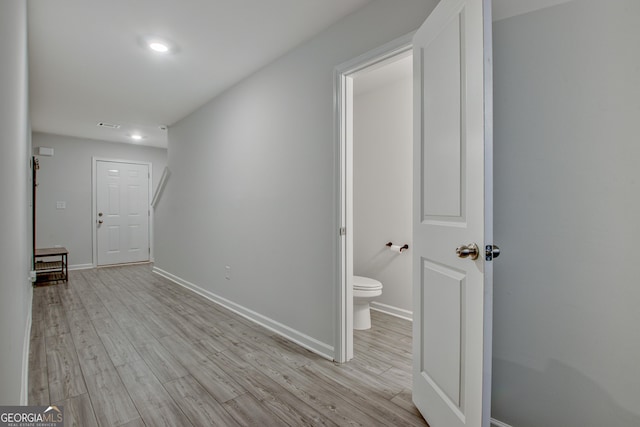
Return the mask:
M 416 29 L 434 4 L 373 1 L 170 128 L 156 266 L 332 347 L 334 67 Z

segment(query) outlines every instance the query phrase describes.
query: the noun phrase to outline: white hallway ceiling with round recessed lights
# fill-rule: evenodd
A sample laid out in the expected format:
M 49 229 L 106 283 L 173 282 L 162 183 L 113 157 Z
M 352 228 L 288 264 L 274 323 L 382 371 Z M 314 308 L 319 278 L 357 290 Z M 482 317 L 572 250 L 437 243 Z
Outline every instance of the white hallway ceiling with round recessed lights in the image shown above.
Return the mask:
M 370 0 L 30 0 L 34 131 L 117 142 L 166 131 Z M 178 52 L 158 55 L 140 38 Z M 105 129 L 98 122 L 120 124 Z

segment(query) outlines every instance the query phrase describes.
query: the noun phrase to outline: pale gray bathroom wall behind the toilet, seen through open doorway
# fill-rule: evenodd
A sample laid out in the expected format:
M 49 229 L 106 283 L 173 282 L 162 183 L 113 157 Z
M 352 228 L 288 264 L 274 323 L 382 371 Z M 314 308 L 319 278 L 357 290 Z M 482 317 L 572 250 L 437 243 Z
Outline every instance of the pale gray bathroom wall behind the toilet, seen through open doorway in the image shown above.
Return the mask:
M 409 65 L 411 66 L 411 65 Z M 413 78 L 411 74 L 353 99 L 353 272 L 383 284 L 372 307 L 410 317 L 413 196 Z

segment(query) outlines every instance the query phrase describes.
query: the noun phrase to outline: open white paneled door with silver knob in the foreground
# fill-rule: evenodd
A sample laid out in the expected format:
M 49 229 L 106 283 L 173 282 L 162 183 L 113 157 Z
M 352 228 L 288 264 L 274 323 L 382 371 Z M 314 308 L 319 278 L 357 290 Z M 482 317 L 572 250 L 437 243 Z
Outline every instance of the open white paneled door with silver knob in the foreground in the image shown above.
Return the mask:
M 431 427 L 490 420 L 490 5 L 441 0 L 413 41 L 413 400 Z

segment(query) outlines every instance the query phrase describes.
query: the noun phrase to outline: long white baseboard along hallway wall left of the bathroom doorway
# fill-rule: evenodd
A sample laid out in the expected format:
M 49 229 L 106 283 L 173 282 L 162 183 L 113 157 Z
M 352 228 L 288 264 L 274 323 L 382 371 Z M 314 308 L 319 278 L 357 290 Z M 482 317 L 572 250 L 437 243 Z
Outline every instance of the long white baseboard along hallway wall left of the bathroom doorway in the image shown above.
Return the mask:
M 239 314 L 240 316 L 246 319 L 251 320 L 254 323 L 257 323 L 258 325 L 264 328 L 269 329 L 270 331 L 273 331 L 287 338 L 288 340 L 295 342 L 296 344 L 306 348 L 307 350 L 310 350 L 316 353 L 317 355 L 324 357 L 325 359 L 329 359 L 329 360 L 334 359 L 335 350 L 333 346 L 320 342 L 313 337 L 310 337 L 306 334 L 303 334 L 300 331 L 290 328 L 287 325 L 283 325 L 280 322 L 277 322 L 273 319 L 263 316 L 260 313 L 256 313 L 253 310 L 250 310 L 246 307 L 236 304 L 235 302 L 230 301 L 226 298 L 223 298 L 219 295 L 216 295 L 213 292 L 202 289 L 200 286 L 190 283 L 184 279 L 181 279 L 180 277 L 174 276 L 173 274 L 168 273 L 162 269 L 159 269 L 156 266 L 153 267 L 152 271 L 166 279 L 171 280 L 174 283 L 177 283 L 180 286 L 183 286 L 191 290 L 192 292 L 197 293 L 198 295 L 201 295 L 207 298 L 210 301 L 215 302 L 218 305 L 221 305 L 222 307 L 228 310 L 233 311 L 236 314 Z

